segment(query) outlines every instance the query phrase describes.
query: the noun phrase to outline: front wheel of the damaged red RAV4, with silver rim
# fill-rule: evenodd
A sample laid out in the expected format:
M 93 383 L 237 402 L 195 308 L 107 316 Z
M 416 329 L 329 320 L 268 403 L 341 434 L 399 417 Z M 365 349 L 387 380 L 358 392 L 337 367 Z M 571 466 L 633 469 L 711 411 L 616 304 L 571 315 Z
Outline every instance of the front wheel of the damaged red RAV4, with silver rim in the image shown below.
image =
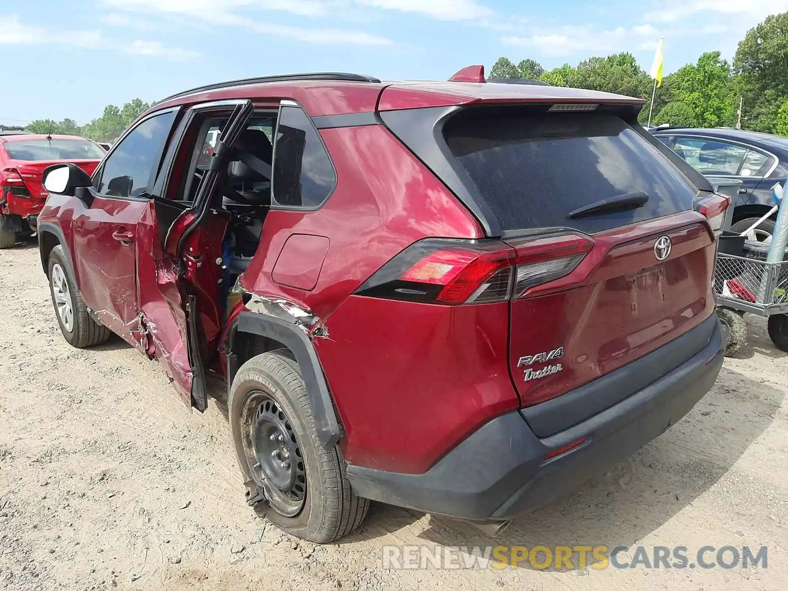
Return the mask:
M 77 348 L 106 342 L 112 332 L 87 314 L 87 307 L 82 301 L 79 288 L 76 287 L 76 279 L 67 262 L 67 255 L 60 244 L 50 252 L 49 279 L 54 315 L 58 319 L 63 338 Z

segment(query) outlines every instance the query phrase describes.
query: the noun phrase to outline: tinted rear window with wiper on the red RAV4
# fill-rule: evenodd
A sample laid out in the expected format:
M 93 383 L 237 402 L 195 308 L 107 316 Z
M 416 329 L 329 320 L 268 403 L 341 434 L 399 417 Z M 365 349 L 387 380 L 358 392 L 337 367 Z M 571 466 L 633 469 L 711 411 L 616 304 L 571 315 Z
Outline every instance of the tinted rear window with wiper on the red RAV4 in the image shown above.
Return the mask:
M 656 148 L 611 114 L 477 111 L 448 121 L 444 136 L 504 230 L 600 232 L 689 210 L 696 195 Z M 649 200 L 637 209 L 567 216 L 639 191 Z

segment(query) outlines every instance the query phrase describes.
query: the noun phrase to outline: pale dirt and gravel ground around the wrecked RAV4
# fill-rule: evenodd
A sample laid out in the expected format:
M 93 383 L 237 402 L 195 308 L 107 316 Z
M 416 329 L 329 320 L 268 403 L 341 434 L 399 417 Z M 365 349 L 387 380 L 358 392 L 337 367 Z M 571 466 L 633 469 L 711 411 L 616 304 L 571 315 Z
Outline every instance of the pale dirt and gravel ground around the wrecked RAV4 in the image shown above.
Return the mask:
M 381 546 L 491 541 L 382 505 L 341 544 L 286 537 L 243 503 L 221 403 L 65 343 L 35 244 L 0 251 L 0 296 L 0 589 L 788 589 L 788 357 L 760 319 L 688 417 L 495 543 L 766 545 L 768 569 L 398 571 Z

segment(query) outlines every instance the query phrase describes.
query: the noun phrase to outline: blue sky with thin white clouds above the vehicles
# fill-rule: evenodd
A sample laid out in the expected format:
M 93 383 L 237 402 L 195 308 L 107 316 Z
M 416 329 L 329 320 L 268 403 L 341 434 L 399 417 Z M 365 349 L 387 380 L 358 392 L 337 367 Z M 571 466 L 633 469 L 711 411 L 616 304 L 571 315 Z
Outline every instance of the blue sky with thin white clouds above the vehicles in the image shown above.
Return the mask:
M 71 117 L 199 84 L 286 72 L 444 80 L 501 55 L 545 68 L 630 51 L 665 72 L 732 58 L 788 0 L 28 0 L 0 6 L 0 124 Z M 529 6 L 530 5 L 530 6 Z

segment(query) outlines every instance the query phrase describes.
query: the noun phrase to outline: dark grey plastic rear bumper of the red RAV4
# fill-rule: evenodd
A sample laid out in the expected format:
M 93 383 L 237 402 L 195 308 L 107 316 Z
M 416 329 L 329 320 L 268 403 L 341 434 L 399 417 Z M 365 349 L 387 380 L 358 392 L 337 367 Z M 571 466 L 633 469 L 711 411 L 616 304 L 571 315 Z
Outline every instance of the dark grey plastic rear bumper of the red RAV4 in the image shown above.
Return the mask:
M 362 497 L 463 519 L 510 519 L 534 511 L 637 452 L 701 400 L 723 364 L 716 314 L 693 331 L 708 331 L 709 325 L 710 336 L 704 337 L 706 343 L 695 355 L 568 429 L 539 438 L 519 412 L 503 414 L 423 474 L 348 465 L 351 485 Z M 627 370 L 625 366 L 608 375 Z M 607 379 L 615 376 L 597 381 Z M 551 450 L 581 437 L 588 438 L 581 446 L 545 461 Z

